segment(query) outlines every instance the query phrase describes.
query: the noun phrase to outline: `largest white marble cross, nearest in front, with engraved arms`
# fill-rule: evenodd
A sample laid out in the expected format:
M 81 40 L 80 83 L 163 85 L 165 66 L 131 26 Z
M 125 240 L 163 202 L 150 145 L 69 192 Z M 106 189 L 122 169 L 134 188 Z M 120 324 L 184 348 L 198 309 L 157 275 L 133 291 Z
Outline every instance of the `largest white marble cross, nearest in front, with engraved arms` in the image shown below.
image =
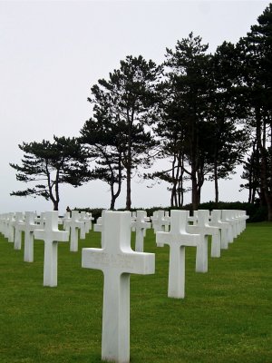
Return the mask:
M 153 253 L 131 250 L 131 212 L 105 211 L 103 248 L 83 249 L 82 266 L 104 274 L 102 359 L 130 362 L 130 275 L 155 272 Z

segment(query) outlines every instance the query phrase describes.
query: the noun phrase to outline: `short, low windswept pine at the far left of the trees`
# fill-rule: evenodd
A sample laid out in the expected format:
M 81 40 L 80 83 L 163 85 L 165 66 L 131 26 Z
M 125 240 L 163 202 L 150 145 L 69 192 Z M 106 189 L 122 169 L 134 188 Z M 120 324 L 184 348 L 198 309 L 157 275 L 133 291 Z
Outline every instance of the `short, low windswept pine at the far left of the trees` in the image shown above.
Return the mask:
M 53 142 L 23 142 L 18 146 L 24 152 L 22 164 L 10 163 L 17 172 L 16 180 L 35 185 L 10 195 L 41 196 L 52 201 L 53 210 L 58 211 L 60 184 L 78 187 L 90 179 L 88 152 L 76 138 L 53 136 Z

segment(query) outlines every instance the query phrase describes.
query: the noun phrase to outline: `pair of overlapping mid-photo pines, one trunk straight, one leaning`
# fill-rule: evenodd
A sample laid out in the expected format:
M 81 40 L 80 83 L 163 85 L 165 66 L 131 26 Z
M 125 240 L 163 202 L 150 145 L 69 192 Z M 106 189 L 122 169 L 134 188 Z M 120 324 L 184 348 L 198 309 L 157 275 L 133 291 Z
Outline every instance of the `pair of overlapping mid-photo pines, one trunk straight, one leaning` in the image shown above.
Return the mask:
M 120 194 L 121 180 L 126 179 L 126 208 L 131 208 L 131 173 L 138 167 L 151 166 L 151 150 L 156 146 L 149 128 L 157 100 L 156 82 L 161 67 L 152 61 L 127 56 L 120 68 L 92 86 L 93 118 L 81 131 L 82 142 L 90 145 L 99 164 L 94 178 L 111 185 L 112 203 Z M 138 172 L 138 170 L 137 170 Z M 117 191 L 113 184 L 117 183 Z

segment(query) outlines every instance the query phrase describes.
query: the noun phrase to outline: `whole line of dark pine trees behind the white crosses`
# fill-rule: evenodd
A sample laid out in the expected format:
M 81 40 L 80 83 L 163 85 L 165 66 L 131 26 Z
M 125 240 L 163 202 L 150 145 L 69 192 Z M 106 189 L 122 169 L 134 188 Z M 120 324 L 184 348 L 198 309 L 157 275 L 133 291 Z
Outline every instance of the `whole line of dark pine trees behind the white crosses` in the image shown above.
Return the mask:
M 175 49 L 166 48 L 163 64 L 127 56 L 92 86 L 92 117 L 79 138 L 20 146 L 23 166 L 11 164 L 17 180 L 36 181 L 42 174 L 44 182 L 12 195 L 42 195 L 57 209 L 53 188 L 57 192 L 59 183 L 100 180 L 110 186 L 111 209 L 125 184 L 131 210 L 131 178 L 138 174 L 167 182 L 171 207 L 182 207 L 190 191 L 197 210 L 204 182 L 214 182 L 218 203 L 219 180 L 242 164 L 240 188 L 248 190 L 249 203 L 267 208 L 272 221 L 272 4 L 238 44 L 224 42 L 214 54 L 208 49 L 191 33 Z M 49 147 L 58 149 L 60 140 L 67 149 L 76 144 L 62 162 Z M 159 160 L 169 168 L 151 172 Z

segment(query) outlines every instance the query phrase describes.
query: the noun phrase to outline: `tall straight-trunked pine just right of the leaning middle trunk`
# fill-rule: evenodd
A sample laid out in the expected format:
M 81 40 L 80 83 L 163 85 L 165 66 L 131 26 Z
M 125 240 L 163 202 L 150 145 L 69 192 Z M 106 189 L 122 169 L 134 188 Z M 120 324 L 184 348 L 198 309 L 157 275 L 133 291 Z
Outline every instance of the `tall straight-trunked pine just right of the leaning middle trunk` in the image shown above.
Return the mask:
M 160 66 L 151 60 L 147 62 L 141 55 L 127 56 L 121 61 L 120 68 L 110 73 L 108 81 L 101 79 L 92 86 L 92 96 L 88 99 L 94 105 L 97 122 L 105 122 L 109 132 L 112 132 L 112 138 L 118 138 L 114 142 L 120 147 L 119 156 L 125 172 L 127 210 L 131 209 L 132 173 L 139 172 L 140 167 L 151 165 L 151 150 L 156 145 L 150 125 L 157 100 L 156 84 L 159 74 Z M 87 127 L 86 123 L 83 137 Z M 109 145 L 111 144 L 109 140 Z M 105 156 L 102 159 L 105 160 Z

